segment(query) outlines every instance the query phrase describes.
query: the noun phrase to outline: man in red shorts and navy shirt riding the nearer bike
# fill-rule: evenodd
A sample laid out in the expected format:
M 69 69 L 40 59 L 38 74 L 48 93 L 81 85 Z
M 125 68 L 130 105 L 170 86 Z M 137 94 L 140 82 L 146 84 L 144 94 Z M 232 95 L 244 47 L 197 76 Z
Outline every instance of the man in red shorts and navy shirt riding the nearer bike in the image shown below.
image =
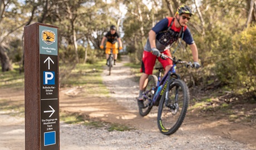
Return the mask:
M 200 67 L 198 63 L 198 49 L 189 28 L 186 26 L 192 15 L 194 14 L 191 12 L 191 9 L 188 6 L 182 5 L 177 9 L 175 17 L 162 19 L 150 30 L 144 47 L 140 70 L 142 74 L 139 83 L 139 97 L 137 98 L 140 108 L 144 107 L 142 94 L 147 83 L 147 77 L 149 77 L 149 74 L 152 74 L 156 59 L 163 65 L 165 74 L 168 73 L 169 69 L 173 66 L 173 62 L 170 59 L 161 59 L 159 56 L 163 53 L 171 57 L 170 47 L 179 38 L 182 38 L 189 44 L 193 55 L 194 67 Z

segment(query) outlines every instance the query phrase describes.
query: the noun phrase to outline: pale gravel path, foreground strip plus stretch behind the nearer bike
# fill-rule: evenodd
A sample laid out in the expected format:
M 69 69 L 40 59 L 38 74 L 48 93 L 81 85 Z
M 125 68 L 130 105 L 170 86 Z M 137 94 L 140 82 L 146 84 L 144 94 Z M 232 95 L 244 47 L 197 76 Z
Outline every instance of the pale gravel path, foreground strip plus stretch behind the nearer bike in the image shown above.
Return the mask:
M 127 61 L 127 59 L 124 58 Z M 125 61 L 118 63 L 111 76 L 106 69 L 102 73 L 104 84 L 110 89 L 111 97 L 117 104 L 137 113 L 138 86 Z M 0 97 L 1 98 L 1 97 Z M 132 131 L 112 131 L 105 128 L 90 128 L 79 124 L 60 124 L 61 149 L 250 149 L 247 144 L 205 132 L 199 124 L 185 121 L 181 128 L 171 136 L 158 131 L 156 116 L 153 112 L 144 118 L 137 117 L 137 128 Z M 139 114 L 139 113 L 137 113 Z M 186 120 L 186 119 L 185 119 Z M 12 117 L 8 112 L 0 112 L 0 149 L 24 149 L 24 118 Z

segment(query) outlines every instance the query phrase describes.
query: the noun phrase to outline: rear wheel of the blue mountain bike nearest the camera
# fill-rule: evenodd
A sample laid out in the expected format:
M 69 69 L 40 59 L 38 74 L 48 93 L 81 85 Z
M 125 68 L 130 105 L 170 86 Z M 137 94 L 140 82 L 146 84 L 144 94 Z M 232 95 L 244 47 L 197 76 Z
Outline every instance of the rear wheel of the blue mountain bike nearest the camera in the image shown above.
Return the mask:
M 145 87 L 145 91 L 149 91 L 150 89 L 155 87 L 157 84 L 157 77 L 154 74 L 150 75 L 147 79 L 148 79 L 148 81 L 147 81 L 147 85 Z M 146 94 L 146 96 L 150 99 L 153 99 L 154 93 L 155 93 L 155 91 L 151 90 L 150 92 L 148 92 Z M 144 108 L 139 107 L 140 116 L 146 116 L 147 114 L 149 114 L 149 112 L 152 109 L 152 106 L 153 106 L 152 101 L 148 98 L 143 99 L 143 103 L 144 103 L 145 107 Z

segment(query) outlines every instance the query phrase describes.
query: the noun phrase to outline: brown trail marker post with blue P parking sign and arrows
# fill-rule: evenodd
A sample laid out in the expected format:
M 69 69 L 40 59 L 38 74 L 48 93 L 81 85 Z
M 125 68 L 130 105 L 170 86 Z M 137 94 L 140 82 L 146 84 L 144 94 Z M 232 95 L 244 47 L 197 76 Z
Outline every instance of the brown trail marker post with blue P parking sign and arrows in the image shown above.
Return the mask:
M 24 27 L 25 149 L 60 149 L 58 27 Z

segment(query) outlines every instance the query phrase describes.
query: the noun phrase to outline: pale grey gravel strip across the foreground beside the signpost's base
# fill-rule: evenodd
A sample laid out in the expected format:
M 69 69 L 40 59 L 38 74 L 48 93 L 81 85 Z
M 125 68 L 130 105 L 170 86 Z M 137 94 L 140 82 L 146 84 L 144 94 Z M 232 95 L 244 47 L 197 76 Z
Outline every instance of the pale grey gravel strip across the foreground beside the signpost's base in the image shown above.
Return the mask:
M 0 149 L 24 149 L 24 119 L 0 114 Z M 61 123 L 61 149 L 248 149 L 245 144 L 195 131 L 164 136 L 159 132 L 113 131 Z

